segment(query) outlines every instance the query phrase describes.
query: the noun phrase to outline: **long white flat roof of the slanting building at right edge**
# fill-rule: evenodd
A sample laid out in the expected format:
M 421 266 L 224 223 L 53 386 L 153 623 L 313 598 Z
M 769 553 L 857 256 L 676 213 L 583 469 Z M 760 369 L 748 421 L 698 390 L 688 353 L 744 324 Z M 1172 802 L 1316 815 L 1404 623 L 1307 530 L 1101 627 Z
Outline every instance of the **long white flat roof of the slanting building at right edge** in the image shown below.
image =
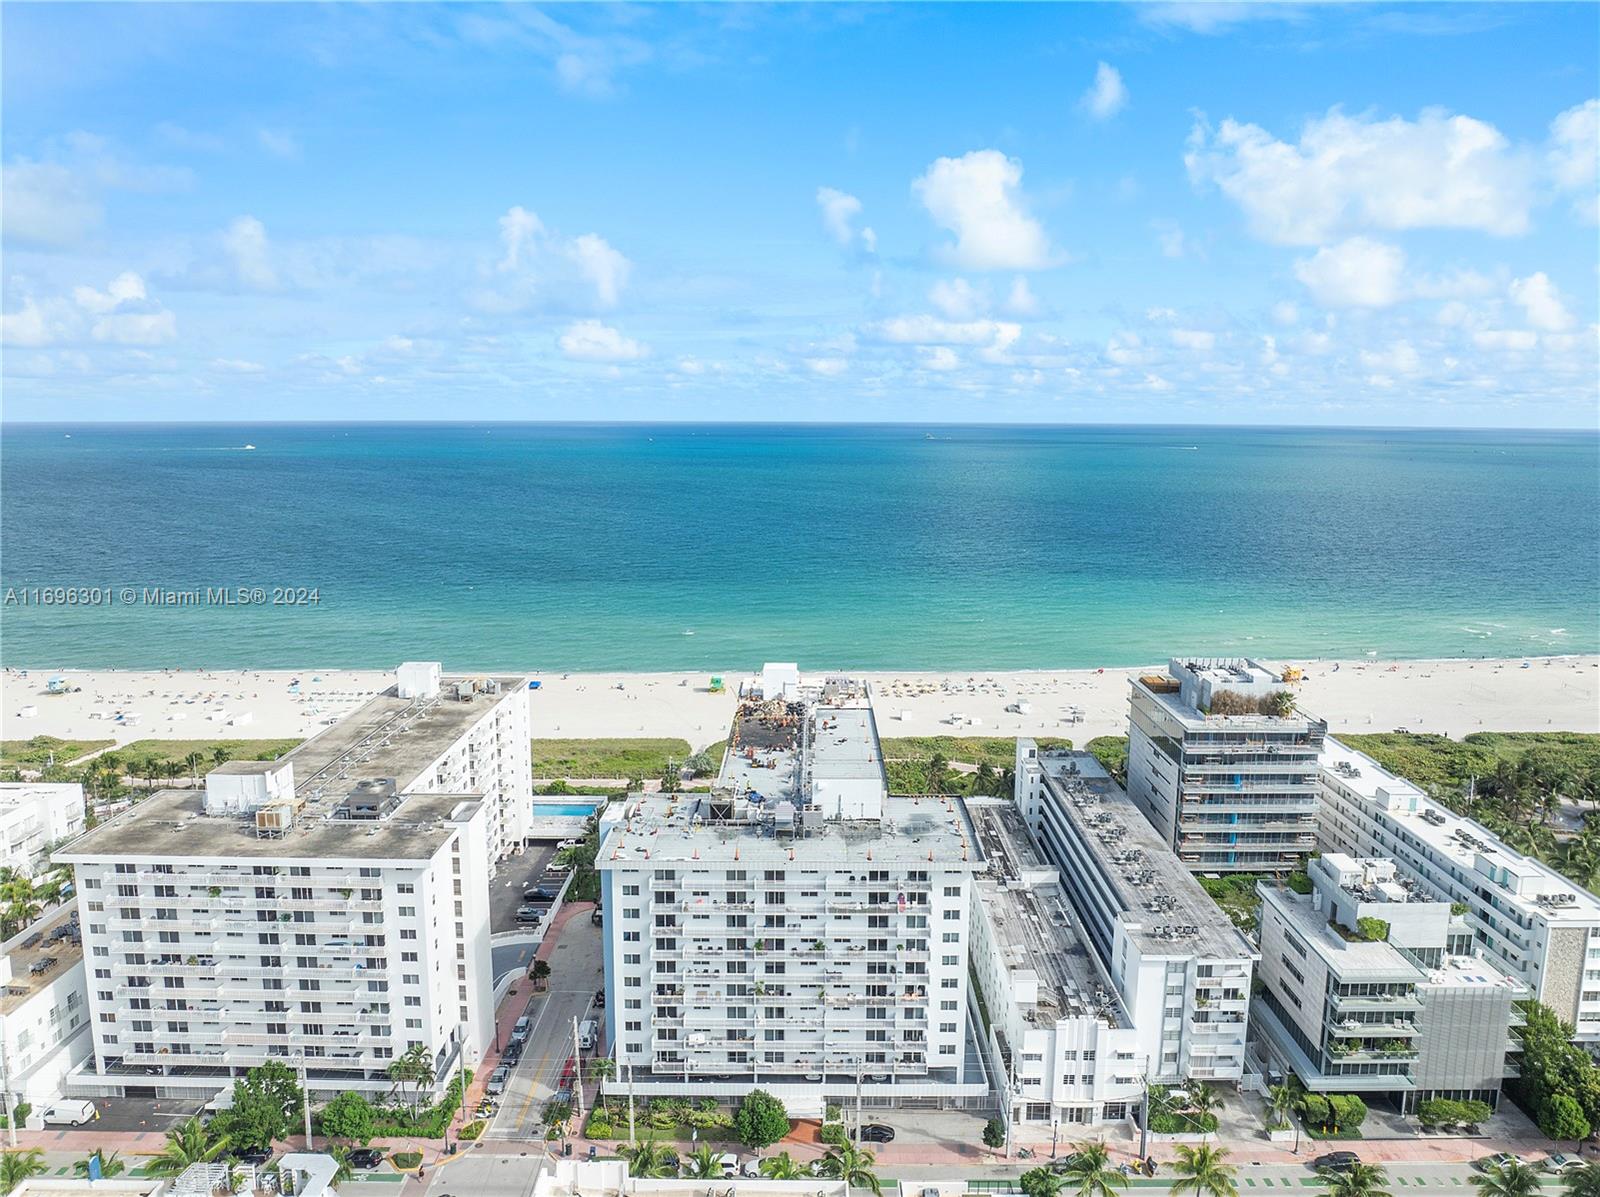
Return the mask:
M 1550 922 L 1566 919 L 1592 923 L 1600 919 L 1600 898 L 1578 885 L 1578 882 L 1563 877 L 1542 861 L 1523 856 L 1515 848 L 1507 847 L 1499 835 L 1482 823 L 1456 815 L 1448 807 L 1442 807 L 1426 792 L 1405 778 L 1395 776 L 1365 752 L 1328 736 L 1322 746 L 1320 763 L 1326 779 L 1349 787 L 1357 797 L 1376 807 L 1381 816 L 1405 827 L 1408 834 L 1426 843 L 1432 851 L 1461 866 L 1474 877 L 1482 879 L 1483 883 L 1494 885 L 1494 893 L 1520 911 L 1538 914 Z M 1403 802 L 1414 800 L 1416 810 L 1379 805 L 1379 789 L 1387 791 Z M 1424 811 L 1430 811 L 1432 816 L 1424 816 Z M 1478 872 L 1478 856 L 1485 856 L 1493 867 L 1510 869 L 1522 877 L 1534 877 L 1539 893 L 1571 895 L 1571 901 L 1554 906 L 1536 901 L 1533 895 L 1514 893 Z M 1403 863 L 1400 869 L 1405 871 Z

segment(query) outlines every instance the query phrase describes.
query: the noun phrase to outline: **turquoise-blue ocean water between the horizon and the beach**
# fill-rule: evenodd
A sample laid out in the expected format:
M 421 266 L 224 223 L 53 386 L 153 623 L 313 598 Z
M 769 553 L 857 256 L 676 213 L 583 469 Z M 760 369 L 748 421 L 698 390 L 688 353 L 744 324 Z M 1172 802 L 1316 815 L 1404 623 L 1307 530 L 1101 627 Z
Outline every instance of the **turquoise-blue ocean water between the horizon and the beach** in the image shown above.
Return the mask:
M 245 445 L 254 445 L 245 450 Z M 1600 650 L 1594 434 L 8 426 L 11 666 L 1070 667 Z

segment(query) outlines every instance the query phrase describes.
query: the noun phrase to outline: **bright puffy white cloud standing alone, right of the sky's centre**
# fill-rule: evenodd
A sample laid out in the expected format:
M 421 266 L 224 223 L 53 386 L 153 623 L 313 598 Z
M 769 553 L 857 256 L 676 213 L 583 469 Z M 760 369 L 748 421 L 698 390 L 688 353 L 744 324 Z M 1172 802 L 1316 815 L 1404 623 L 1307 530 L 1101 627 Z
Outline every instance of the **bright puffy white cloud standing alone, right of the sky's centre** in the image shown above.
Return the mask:
M 912 184 L 934 224 L 955 234 L 939 256 L 965 270 L 1042 270 L 1056 261 L 1022 202 L 1022 163 L 1000 150 L 939 158 Z

